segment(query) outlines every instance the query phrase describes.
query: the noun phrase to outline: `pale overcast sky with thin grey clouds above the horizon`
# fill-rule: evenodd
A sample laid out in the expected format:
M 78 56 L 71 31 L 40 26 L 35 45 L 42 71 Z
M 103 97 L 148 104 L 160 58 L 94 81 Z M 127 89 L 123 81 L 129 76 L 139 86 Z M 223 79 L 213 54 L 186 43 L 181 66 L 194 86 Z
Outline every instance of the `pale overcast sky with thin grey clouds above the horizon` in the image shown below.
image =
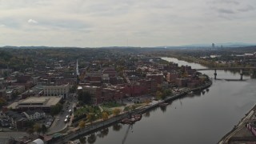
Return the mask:
M 255 39 L 255 0 L 0 0 L 0 46 L 183 46 Z

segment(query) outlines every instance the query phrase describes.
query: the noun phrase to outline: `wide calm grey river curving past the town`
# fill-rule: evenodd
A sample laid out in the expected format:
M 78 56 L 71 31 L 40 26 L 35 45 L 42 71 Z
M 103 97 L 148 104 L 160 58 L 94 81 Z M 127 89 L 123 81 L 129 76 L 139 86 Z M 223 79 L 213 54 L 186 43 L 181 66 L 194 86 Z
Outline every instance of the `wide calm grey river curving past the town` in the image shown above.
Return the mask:
M 206 68 L 176 58 L 162 59 L 176 62 L 178 66 Z M 213 70 L 202 73 L 214 77 Z M 239 74 L 230 71 L 218 70 L 217 74 L 217 78 L 240 78 Z M 213 85 L 204 94 L 179 98 L 170 102 L 166 108 L 151 110 L 143 114 L 142 120 L 133 126 L 115 124 L 102 132 L 87 135 L 87 143 L 217 143 L 256 103 L 256 82 L 248 76 L 244 76 L 244 79 L 246 81 L 242 82 L 213 80 Z

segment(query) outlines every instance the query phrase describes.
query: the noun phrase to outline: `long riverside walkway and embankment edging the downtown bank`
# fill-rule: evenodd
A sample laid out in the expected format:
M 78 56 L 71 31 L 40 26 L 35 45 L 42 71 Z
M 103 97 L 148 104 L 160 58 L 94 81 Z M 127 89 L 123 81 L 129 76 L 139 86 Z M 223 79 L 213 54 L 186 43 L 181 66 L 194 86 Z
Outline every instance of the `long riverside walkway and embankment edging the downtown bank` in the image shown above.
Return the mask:
M 128 117 L 130 114 L 143 114 L 147 110 L 150 110 L 150 109 L 153 109 L 154 107 L 159 106 L 159 103 L 161 103 L 161 102 L 168 102 L 168 101 L 174 100 L 176 98 L 180 98 L 181 96 L 186 95 L 189 91 L 206 89 L 206 88 L 210 87 L 211 84 L 212 84 L 212 82 L 210 81 L 210 82 L 207 82 L 206 85 L 204 85 L 204 86 L 199 86 L 199 87 L 191 89 L 191 90 L 182 91 L 179 94 L 171 95 L 171 96 L 167 97 L 166 99 L 164 99 L 162 101 L 155 102 L 154 104 L 151 104 L 149 106 L 145 106 L 145 107 L 142 107 L 142 108 L 139 108 L 139 109 L 132 110 L 130 112 L 119 114 L 118 116 L 114 116 L 114 117 L 109 118 L 109 119 L 107 119 L 105 121 L 102 121 L 102 122 L 95 122 L 95 123 L 91 124 L 90 126 L 86 126 L 83 129 L 75 131 L 74 133 L 66 134 L 62 138 L 58 138 L 58 139 L 55 139 L 55 140 L 53 139 L 53 141 L 50 142 L 50 143 L 62 144 L 62 143 L 65 143 L 65 142 L 69 141 L 70 139 L 79 138 L 79 136 L 81 136 L 82 134 L 89 134 L 90 132 L 92 132 L 94 130 L 98 130 L 98 129 L 100 129 L 102 127 L 105 127 L 105 126 L 110 126 L 114 122 L 119 122 L 123 118 Z

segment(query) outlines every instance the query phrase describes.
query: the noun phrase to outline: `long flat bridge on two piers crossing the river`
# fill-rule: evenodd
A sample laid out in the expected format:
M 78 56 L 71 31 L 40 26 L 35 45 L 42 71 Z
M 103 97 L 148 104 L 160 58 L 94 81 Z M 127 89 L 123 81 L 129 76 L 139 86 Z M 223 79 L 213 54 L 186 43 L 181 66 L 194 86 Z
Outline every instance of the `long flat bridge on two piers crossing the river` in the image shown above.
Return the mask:
M 197 71 L 201 70 L 214 70 L 214 79 L 217 78 L 217 70 L 240 70 L 240 80 L 242 81 L 243 70 L 256 70 L 256 67 L 214 67 L 206 69 L 196 69 Z

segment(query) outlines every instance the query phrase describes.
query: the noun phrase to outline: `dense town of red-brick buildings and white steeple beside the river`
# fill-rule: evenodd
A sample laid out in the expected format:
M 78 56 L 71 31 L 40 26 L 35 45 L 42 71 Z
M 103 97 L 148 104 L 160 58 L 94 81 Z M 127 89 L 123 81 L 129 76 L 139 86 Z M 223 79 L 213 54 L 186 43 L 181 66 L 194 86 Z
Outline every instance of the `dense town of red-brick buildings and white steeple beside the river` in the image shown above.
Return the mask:
M 97 121 L 104 111 L 113 114 L 114 108 L 111 110 L 109 105 L 119 106 L 118 110 L 121 108 L 120 112 L 124 113 L 137 102 L 166 98 L 166 90 L 172 94 L 177 88 L 193 89 L 208 79 L 190 66 L 178 66 L 161 58 L 139 54 L 123 56 L 118 62 L 115 59 L 121 55 L 107 58 L 107 63 L 106 58 L 70 62 L 56 59 L 44 68 L 1 69 L 1 126 L 4 130 L 9 128 L 8 131 L 27 134 L 34 134 L 38 130 L 34 127 L 38 126 L 38 134 L 43 132 L 40 135 L 54 138 L 52 134 L 62 130 L 75 130 L 78 122 Z M 147 97 L 142 98 L 145 95 Z M 140 100 L 135 102 L 136 97 Z M 93 111 L 98 114 L 93 120 L 88 119 L 90 113 L 78 113 L 90 106 L 94 106 Z M 47 130 L 42 131 L 42 126 Z

